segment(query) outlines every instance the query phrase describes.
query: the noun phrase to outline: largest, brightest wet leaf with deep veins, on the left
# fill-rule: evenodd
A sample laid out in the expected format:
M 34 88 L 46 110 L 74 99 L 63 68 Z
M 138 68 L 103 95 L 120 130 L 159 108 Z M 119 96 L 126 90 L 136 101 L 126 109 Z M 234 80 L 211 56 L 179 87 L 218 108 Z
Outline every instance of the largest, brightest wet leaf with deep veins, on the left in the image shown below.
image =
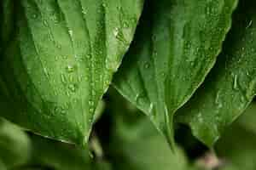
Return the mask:
M 143 0 L 10 2 L 15 25 L 1 53 L 6 111 L 0 116 L 33 133 L 84 144 L 96 106 L 130 45 Z

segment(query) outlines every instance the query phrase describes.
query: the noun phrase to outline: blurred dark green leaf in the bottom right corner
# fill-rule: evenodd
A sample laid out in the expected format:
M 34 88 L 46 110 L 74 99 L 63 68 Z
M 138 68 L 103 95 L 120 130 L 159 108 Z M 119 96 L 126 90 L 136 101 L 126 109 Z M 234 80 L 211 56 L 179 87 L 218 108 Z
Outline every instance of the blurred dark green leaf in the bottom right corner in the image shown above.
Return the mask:
M 254 102 L 245 113 L 222 135 L 216 144 L 218 156 L 222 157 L 227 165 L 237 167 L 237 170 L 256 169 L 256 133 L 255 128 L 249 129 L 245 120 L 255 116 L 256 103 Z M 254 108 L 254 109 L 253 109 Z M 254 123 L 255 127 L 255 123 Z M 233 170 L 233 169 L 232 169 Z

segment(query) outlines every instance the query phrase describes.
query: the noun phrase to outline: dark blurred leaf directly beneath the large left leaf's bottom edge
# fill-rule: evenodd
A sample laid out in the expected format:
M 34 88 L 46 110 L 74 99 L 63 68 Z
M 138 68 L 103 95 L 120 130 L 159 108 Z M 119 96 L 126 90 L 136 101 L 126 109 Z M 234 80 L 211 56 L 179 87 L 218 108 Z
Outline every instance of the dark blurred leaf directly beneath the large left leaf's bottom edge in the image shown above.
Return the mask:
M 32 159 L 27 165 L 36 164 L 55 170 L 90 169 L 88 150 L 70 144 L 43 139 L 36 135 L 32 139 Z

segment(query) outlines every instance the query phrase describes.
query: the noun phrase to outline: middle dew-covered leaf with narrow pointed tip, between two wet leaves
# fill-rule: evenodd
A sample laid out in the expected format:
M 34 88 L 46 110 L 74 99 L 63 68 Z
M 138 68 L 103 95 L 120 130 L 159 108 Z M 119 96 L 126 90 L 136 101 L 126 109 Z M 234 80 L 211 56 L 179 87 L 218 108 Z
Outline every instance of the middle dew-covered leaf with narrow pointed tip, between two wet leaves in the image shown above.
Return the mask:
M 212 68 L 236 0 L 148 1 L 114 87 L 173 143 L 172 118 Z

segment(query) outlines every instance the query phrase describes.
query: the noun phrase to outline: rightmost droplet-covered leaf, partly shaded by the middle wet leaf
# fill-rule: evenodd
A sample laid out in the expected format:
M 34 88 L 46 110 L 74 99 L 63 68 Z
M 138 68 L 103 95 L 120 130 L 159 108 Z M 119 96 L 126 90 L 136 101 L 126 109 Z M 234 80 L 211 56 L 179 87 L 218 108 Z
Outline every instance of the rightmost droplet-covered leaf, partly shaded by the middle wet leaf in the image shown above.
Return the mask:
M 195 137 L 212 146 L 256 94 L 256 3 L 241 1 L 223 53 L 193 99 L 178 111 Z

